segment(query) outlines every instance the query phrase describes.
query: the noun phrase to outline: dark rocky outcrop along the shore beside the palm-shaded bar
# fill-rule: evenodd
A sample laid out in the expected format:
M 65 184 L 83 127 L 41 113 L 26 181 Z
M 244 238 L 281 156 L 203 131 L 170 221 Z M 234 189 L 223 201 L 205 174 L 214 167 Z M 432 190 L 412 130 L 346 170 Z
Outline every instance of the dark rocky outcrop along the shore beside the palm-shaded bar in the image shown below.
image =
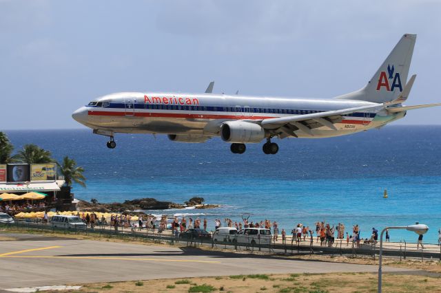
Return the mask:
M 167 210 L 170 208 L 183 209 L 189 206 L 194 206 L 196 209 L 218 208 L 217 204 L 203 204 L 203 197 L 192 197 L 185 204 L 176 204 L 174 202 L 161 202 L 154 198 L 140 198 L 126 200 L 125 202 L 113 202 L 110 204 L 99 203 L 92 199 L 91 202 L 86 202 L 79 199 L 77 209 L 81 211 L 96 211 L 100 213 L 124 213 L 134 212 L 135 210 Z

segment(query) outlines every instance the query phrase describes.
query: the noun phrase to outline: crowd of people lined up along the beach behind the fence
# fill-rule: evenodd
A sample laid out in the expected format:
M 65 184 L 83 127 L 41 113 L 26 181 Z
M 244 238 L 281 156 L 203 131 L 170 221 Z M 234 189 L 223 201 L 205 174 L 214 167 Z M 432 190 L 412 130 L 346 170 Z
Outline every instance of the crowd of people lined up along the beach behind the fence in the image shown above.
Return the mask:
M 31 208 L 34 205 L 27 205 L 27 208 Z M 44 202 L 38 204 L 38 206 L 44 207 Z M 13 207 L 10 207 L 6 204 L 6 206 L 0 206 L 3 210 L 10 210 Z M 43 221 L 47 222 L 48 218 L 45 214 L 45 218 Z M 163 232 L 164 230 L 172 230 L 174 235 L 178 235 L 179 233 L 185 232 L 185 230 L 192 228 L 199 228 L 203 230 L 207 230 L 207 219 L 200 219 L 196 217 L 193 219 L 192 217 L 174 217 L 170 221 L 170 218 L 167 215 L 163 215 L 161 219 L 158 221 L 158 227 L 156 227 L 156 216 L 154 215 L 144 215 L 141 214 L 138 217 L 137 221 L 132 221 L 132 216 L 130 214 L 112 214 L 110 217 L 110 221 L 107 221 L 104 216 L 99 218 L 96 213 L 72 213 L 72 215 L 76 215 L 81 217 L 84 223 L 90 227 L 94 228 L 94 226 L 106 226 L 110 225 L 117 230 L 119 227 L 123 228 L 132 228 L 132 230 L 152 230 L 153 232 Z M 214 219 L 214 228 L 217 230 L 222 226 L 233 227 L 236 230 L 240 231 L 246 228 L 265 228 L 271 230 L 272 241 L 278 241 L 279 235 L 281 241 L 283 243 L 287 243 L 289 237 L 287 235 L 287 231 L 283 228 L 281 231 L 278 228 L 278 223 L 276 221 L 270 221 L 269 219 L 265 219 L 262 221 L 249 221 L 248 218 L 243 218 L 242 221 L 233 221 L 232 219 L 225 218 L 223 221 L 220 219 Z M 352 246 L 354 248 L 360 248 L 362 244 L 375 245 L 378 243 L 378 230 L 376 228 L 372 228 L 371 235 L 365 239 L 360 237 L 360 227 L 358 224 L 353 225 L 350 232 L 346 231 L 345 224 L 338 223 L 336 226 L 330 225 L 329 223 L 325 223 L 325 221 L 317 221 L 315 224 L 315 230 L 309 228 L 309 226 L 305 226 L 301 223 L 298 223 L 291 230 L 291 244 L 296 242 L 296 244 L 300 244 L 301 242 L 309 241 L 309 243 L 313 244 L 314 239 L 315 243 L 320 243 L 320 246 L 333 246 L 336 243 L 336 246 L 343 245 Z M 389 230 L 385 230 L 385 242 L 390 241 Z M 339 241 L 336 242 L 336 239 Z M 418 248 L 421 246 L 424 248 L 422 243 L 422 235 L 418 237 Z M 438 245 L 441 246 L 441 229 L 438 230 Z

